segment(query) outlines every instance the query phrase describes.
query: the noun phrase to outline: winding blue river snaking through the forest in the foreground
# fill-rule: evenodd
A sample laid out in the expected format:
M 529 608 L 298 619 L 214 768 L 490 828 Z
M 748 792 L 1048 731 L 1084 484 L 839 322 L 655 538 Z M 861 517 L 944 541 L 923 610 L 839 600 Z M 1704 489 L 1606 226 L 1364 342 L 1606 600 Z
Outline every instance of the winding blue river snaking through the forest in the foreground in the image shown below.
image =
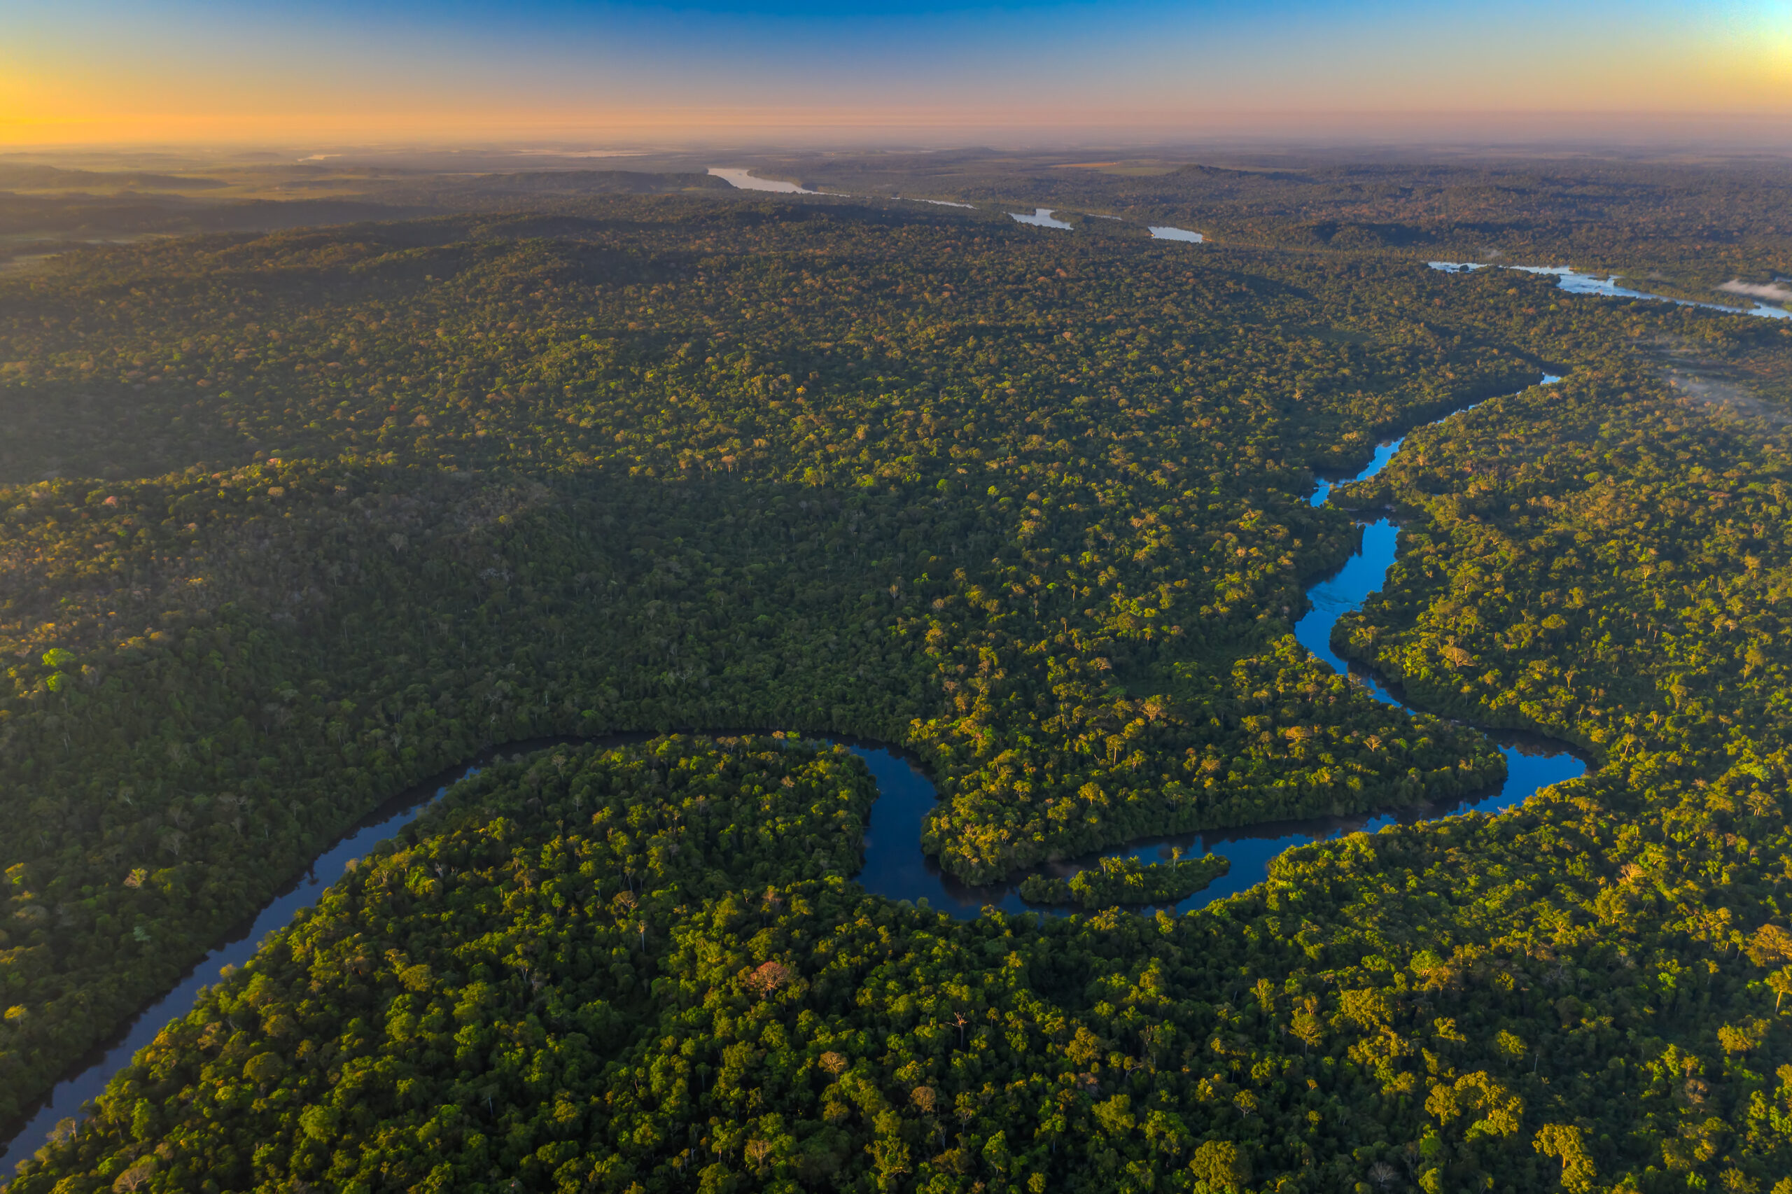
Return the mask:
M 1016 217 L 1018 219 L 1018 217 Z M 1543 382 L 1559 378 L 1545 376 Z M 1448 416 L 1446 416 L 1448 418 Z M 1364 480 L 1382 472 L 1400 452 L 1401 439 L 1391 439 L 1374 450 L 1369 464 L 1348 480 Z M 1321 477 L 1312 497 L 1314 506 L 1324 504 L 1335 480 Z M 1331 651 L 1331 626 L 1340 615 L 1362 606 L 1369 593 L 1382 588 L 1387 570 L 1394 563 L 1394 549 L 1400 527 L 1391 518 L 1362 522 L 1362 545 L 1342 568 L 1317 581 L 1308 590 L 1312 610 L 1296 624 L 1296 638 L 1315 656 L 1330 663 L 1339 672 L 1349 672 L 1378 701 L 1407 708 L 1373 676 L 1351 669 Z M 638 735 L 645 737 L 645 735 Z M 1231 871 L 1206 889 L 1174 907 L 1186 913 L 1213 900 L 1240 893 L 1269 875 L 1269 864 L 1276 855 L 1294 846 L 1326 841 L 1355 832 L 1374 832 L 1394 823 L 1412 823 L 1444 818 L 1462 812 L 1498 812 L 1521 803 L 1527 796 L 1550 783 L 1575 778 L 1586 771 L 1586 762 L 1566 751 L 1557 742 L 1525 735 L 1491 735 L 1505 755 L 1507 776 L 1498 792 L 1480 800 L 1460 801 L 1450 807 L 1416 807 L 1383 816 L 1351 818 L 1315 818 L 1306 821 L 1281 821 L 1271 825 L 1253 825 L 1245 828 L 1211 830 L 1202 834 L 1183 834 L 1176 837 L 1156 837 L 1133 843 L 1118 850 L 1104 852 L 1106 857 L 1131 855 L 1147 862 L 1170 857 L 1172 846 L 1181 846 L 1190 855 L 1202 852 L 1222 853 L 1231 859 Z M 324 850 L 312 862 L 299 880 L 289 884 L 274 900 L 263 907 L 251 923 L 246 923 L 229 941 L 217 947 L 195 965 L 172 991 L 152 1006 L 145 1008 L 125 1029 L 122 1040 L 86 1060 L 82 1069 L 57 1083 L 45 1104 L 5 1146 L 4 1156 L 13 1160 L 5 1176 L 20 1160 L 39 1149 L 56 1124 L 79 1115 L 81 1106 L 99 1095 L 131 1056 L 156 1038 L 165 1024 L 185 1017 L 199 999 L 201 986 L 211 982 L 220 966 L 240 966 L 254 956 L 262 939 L 274 929 L 292 921 L 292 914 L 301 907 L 310 907 L 323 889 L 348 871 L 353 859 L 366 855 L 376 843 L 391 837 L 400 828 L 414 821 L 425 809 L 448 792 L 448 789 L 487 766 L 500 755 L 521 755 L 530 749 L 566 742 L 568 739 L 538 739 L 532 742 L 513 742 L 498 748 L 471 764 L 455 767 L 430 783 L 418 785 L 394 798 L 380 810 L 369 814 L 355 830 Z M 934 807 L 937 794 L 932 782 L 912 762 L 896 751 L 858 742 L 840 740 L 871 769 L 878 783 L 878 800 L 871 810 L 871 826 L 866 832 L 866 859 L 858 871 L 858 882 L 876 895 L 892 900 L 909 900 L 921 907 L 934 907 L 959 918 L 975 918 L 984 907 L 998 907 L 1018 913 L 1029 911 L 1014 882 L 989 887 L 969 887 L 950 875 L 941 873 L 937 861 L 921 853 L 921 825 Z M 1084 866 L 1093 866 L 1102 855 L 1072 859 L 1048 864 L 1047 873 L 1068 877 Z M 1038 909 L 1032 909 L 1038 911 Z

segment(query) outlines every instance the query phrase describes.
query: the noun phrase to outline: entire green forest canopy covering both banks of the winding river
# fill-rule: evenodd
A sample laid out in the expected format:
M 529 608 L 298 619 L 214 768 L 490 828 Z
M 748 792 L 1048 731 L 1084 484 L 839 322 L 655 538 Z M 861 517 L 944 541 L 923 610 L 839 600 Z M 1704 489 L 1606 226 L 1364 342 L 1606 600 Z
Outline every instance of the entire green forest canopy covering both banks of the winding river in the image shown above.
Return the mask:
M 407 785 L 647 739 L 457 785 L 7 1189 L 1792 1192 L 1788 321 L 667 177 L 0 276 L 0 1120 Z M 1419 715 L 1290 633 L 1380 507 Z M 1038 871 L 1475 724 L 1595 767 L 1185 916 Z M 815 735 L 1072 914 L 866 893 Z

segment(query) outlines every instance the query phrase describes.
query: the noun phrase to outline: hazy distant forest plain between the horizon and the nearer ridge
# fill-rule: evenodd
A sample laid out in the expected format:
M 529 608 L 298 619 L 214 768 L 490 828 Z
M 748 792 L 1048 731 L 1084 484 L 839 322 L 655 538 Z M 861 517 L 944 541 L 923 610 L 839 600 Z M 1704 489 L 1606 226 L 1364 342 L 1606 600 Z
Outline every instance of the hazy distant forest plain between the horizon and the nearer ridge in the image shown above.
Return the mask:
M 607 194 L 731 190 L 704 174 L 717 161 L 701 154 L 636 158 L 629 170 L 591 170 L 577 158 L 534 161 L 550 169 L 518 170 L 516 156 L 502 152 L 380 151 L 332 163 L 163 161 L 156 170 L 0 165 L 0 262 L 36 251 L 32 238 L 267 231 L 520 208 L 588 217 Z M 1086 161 L 961 149 L 762 156 L 753 165 L 765 177 L 858 203 L 946 199 L 1002 222 L 1004 212 L 1048 204 L 1079 237 L 1140 238 L 1147 224 L 1174 224 L 1220 244 L 1297 253 L 1572 264 L 1620 273 L 1634 289 L 1738 307 L 1749 299 L 1720 290 L 1726 281 L 1774 285 L 1792 276 L 1783 203 L 1792 176 L 1765 156 L 1400 161 L 1231 147 L 1193 160 Z

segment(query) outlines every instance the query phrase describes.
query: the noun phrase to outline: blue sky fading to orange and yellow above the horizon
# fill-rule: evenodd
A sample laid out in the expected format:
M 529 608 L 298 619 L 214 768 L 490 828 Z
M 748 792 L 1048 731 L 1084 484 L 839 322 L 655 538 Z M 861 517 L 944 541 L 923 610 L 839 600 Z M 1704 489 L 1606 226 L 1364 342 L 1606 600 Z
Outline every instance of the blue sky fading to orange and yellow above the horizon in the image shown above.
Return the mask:
M 1792 136 L 1792 0 L 0 0 L 0 145 Z

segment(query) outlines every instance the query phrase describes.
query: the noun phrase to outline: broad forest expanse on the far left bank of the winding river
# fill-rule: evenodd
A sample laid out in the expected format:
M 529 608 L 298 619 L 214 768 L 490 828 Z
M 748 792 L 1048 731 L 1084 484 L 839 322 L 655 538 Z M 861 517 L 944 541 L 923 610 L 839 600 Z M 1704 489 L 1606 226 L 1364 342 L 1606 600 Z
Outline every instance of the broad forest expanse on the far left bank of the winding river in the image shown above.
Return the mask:
M 111 249 L 0 303 L 18 472 L 210 457 L 0 498 L 7 1106 L 489 742 L 900 740 L 973 880 L 1498 780 L 1294 645 L 1351 540 L 1301 464 L 1534 366 L 1278 333 L 1344 312 L 1149 244 L 1115 276 L 950 219 L 552 226 Z

